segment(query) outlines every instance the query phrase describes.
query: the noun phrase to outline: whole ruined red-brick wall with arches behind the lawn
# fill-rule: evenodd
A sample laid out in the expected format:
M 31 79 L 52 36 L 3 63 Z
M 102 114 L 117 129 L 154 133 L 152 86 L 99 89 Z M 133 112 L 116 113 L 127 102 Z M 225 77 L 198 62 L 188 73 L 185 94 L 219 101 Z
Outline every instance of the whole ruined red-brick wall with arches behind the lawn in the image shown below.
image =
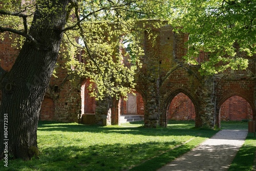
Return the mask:
M 129 94 L 128 101 L 122 98 L 95 101 L 88 95 L 90 80 L 76 78 L 75 81 L 70 81 L 68 71 L 63 67 L 68 59 L 59 56 L 57 78 L 51 79 L 42 102 L 40 119 L 108 125 L 120 124 L 120 115 L 139 114 L 144 115 L 146 126 L 166 126 L 172 111 L 171 102 L 177 99 L 177 95 L 183 94 L 192 103 L 190 106 L 193 116 L 186 118 L 195 120 L 198 127 L 219 127 L 221 119 L 228 120 L 227 116 L 222 114 L 226 109 L 226 106 L 222 105 L 230 97 L 236 103 L 241 103 L 236 100 L 237 97 L 245 100 L 245 111 L 249 110 L 248 114 L 242 117 L 232 116 L 234 120 L 255 120 L 256 82 L 253 77 L 256 74 L 256 56 L 240 54 L 249 60 L 247 70 L 227 70 L 214 76 L 201 76 L 198 72 L 200 66 L 190 66 L 182 59 L 186 54 L 184 43 L 188 35 L 176 34 L 172 30 L 169 25 L 152 28 L 152 33 L 158 35 L 154 42 L 148 39 L 147 32 L 142 33 L 145 55 L 141 57 L 142 68 L 136 75 L 136 96 Z M 18 54 L 18 50 L 11 47 L 11 42 L 9 35 L 6 35 L 4 41 L 0 40 L 0 65 L 7 71 Z M 199 63 L 207 60 L 207 57 L 207 54 L 201 53 Z M 230 106 L 229 108 L 236 107 Z

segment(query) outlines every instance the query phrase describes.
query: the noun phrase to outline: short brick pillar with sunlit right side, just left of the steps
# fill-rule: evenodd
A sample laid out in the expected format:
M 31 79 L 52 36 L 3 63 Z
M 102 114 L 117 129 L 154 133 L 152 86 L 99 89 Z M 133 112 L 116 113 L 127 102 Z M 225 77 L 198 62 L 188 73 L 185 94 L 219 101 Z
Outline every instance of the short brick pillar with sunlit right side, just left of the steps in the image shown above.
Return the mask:
M 95 121 L 98 125 L 111 125 L 111 107 L 112 98 L 104 97 L 103 100 L 97 101 L 95 110 Z

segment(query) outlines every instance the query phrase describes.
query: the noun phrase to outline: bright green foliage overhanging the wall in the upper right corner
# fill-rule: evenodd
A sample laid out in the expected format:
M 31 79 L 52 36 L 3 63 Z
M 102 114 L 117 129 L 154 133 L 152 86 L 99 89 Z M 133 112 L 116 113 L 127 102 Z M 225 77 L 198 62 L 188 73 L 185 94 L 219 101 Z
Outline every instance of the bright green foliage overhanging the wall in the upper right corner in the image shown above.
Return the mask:
M 197 63 L 201 51 L 209 53 L 202 63 L 201 72 L 217 74 L 231 68 L 245 69 L 246 54 L 256 53 L 256 19 L 254 1 L 177 1 L 177 12 L 171 20 L 176 31 L 189 33 L 188 53 L 190 63 Z M 244 52 L 244 53 L 241 53 Z

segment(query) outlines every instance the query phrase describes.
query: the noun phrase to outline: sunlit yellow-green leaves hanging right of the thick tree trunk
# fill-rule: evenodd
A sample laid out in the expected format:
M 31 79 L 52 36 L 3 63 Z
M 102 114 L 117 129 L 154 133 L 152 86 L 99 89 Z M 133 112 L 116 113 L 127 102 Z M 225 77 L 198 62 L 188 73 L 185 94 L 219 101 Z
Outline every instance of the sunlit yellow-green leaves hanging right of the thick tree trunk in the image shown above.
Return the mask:
M 80 28 L 74 27 L 79 31 L 69 30 L 67 34 L 76 32 L 79 37 L 78 44 L 75 41 L 72 44 L 83 49 L 84 63 L 71 59 L 67 68 L 96 85 L 91 86 L 91 95 L 96 99 L 105 95 L 126 96 L 135 87 L 134 75 L 141 66 L 139 57 L 144 54 L 141 42 L 145 29 L 137 27 L 137 22 L 166 16 L 167 6 L 163 4 L 162 1 L 83 1 L 80 4 Z M 153 34 L 148 37 L 153 41 L 156 38 Z M 129 67 L 124 65 L 124 58 L 131 62 Z

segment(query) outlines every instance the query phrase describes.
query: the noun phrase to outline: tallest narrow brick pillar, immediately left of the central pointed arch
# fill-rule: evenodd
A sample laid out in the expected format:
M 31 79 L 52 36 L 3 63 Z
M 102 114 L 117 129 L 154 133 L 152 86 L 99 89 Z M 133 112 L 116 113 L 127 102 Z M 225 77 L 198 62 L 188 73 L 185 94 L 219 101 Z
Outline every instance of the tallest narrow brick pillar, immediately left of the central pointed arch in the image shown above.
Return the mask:
M 153 35 L 159 34 L 158 29 L 151 30 Z M 146 127 L 157 127 L 160 115 L 160 39 L 156 37 L 154 41 L 148 36 L 148 32 L 144 34 L 144 52 L 142 57 L 144 67 L 141 71 L 146 80 L 145 101 L 144 101 L 144 121 Z

